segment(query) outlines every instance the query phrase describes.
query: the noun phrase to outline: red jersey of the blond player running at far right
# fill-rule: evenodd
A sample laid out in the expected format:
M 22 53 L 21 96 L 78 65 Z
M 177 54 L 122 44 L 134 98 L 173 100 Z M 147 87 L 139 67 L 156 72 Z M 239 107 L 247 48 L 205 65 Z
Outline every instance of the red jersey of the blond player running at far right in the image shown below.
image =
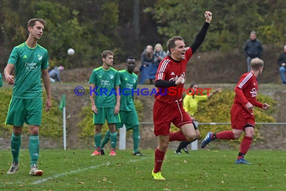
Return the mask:
M 242 93 L 240 89 L 242 90 Z M 261 108 L 262 104 L 256 101 L 257 91 L 258 84 L 256 77 L 253 75 L 253 73 L 248 72 L 242 74 L 237 85 L 235 86 L 236 95 L 234 97 L 234 104 L 241 104 L 242 107 L 245 108 L 247 111 L 249 110 L 245 107 L 245 105 L 248 102 L 253 106 Z M 252 110 L 249 111 L 249 113 L 252 113 Z

